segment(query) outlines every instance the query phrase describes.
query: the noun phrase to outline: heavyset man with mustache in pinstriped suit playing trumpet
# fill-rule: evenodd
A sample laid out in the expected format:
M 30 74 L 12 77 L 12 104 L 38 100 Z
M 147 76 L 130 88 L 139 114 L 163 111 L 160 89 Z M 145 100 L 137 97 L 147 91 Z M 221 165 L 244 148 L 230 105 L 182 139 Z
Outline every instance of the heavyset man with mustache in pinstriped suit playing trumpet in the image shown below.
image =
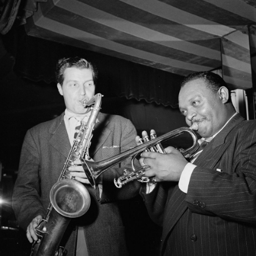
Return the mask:
M 256 121 L 236 113 L 226 83 L 211 72 L 185 77 L 179 108 L 203 151 L 190 162 L 172 147 L 140 159 L 154 177 L 141 196 L 163 226 L 161 255 L 256 255 Z

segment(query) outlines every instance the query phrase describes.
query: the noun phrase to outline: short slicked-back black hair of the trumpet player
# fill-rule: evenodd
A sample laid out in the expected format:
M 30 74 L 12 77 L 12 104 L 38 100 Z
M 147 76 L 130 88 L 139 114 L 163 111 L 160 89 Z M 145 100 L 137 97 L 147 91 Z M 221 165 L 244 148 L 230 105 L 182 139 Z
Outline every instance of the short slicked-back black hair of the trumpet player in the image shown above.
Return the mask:
M 227 90 L 229 90 L 229 87 L 227 86 L 226 82 L 222 79 L 222 77 L 210 71 L 196 72 L 196 73 L 189 74 L 187 77 L 185 77 L 181 81 L 180 88 L 182 88 L 188 82 L 196 79 L 204 80 L 206 87 L 210 89 L 213 94 L 216 94 L 219 88 L 221 88 L 222 86 L 226 87 Z M 228 102 L 231 102 L 230 90 L 229 90 Z

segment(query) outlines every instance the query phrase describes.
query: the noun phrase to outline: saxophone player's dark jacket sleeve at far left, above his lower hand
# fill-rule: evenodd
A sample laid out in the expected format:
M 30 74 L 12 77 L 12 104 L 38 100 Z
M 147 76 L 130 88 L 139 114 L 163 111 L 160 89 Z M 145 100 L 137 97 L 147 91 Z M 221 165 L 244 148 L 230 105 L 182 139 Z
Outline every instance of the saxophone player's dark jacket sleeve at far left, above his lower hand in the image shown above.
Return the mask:
M 40 201 L 38 147 L 30 130 L 21 149 L 18 177 L 13 189 L 13 210 L 21 228 L 26 230 L 37 215 L 46 213 Z

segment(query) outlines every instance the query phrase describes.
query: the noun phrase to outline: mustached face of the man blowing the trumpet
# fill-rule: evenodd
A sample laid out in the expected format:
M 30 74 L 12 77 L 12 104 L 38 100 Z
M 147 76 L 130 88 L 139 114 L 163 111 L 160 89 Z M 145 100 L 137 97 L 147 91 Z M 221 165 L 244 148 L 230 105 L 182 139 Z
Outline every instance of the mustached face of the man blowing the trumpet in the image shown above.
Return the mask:
M 179 107 L 188 126 L 196 122 L 197 132 L 204 138 L 215 135 L 227 121 L 221 92 L 213 94 L 203 79 L 192 80 L 181 88 Z

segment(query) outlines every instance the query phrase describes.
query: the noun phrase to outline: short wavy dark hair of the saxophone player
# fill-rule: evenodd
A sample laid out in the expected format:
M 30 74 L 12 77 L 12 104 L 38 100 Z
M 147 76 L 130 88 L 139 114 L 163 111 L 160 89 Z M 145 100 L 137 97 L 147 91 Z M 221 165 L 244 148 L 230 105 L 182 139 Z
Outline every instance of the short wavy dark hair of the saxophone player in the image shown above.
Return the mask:
M 96 67 L 87 60 L 80 58 L 80 57 L 69 57 L 69 58 L 62 58 L 58 61 L 55 71 L 55 76 L 57 83 L 60 85 L 63 84 L 64 81 L 64 72 L 66 68 L 79 68 L 79 69 L 91 69 L 93 73 L 93 82 L 96 84 L 96 80 L 98 78 L 98 70 Z

